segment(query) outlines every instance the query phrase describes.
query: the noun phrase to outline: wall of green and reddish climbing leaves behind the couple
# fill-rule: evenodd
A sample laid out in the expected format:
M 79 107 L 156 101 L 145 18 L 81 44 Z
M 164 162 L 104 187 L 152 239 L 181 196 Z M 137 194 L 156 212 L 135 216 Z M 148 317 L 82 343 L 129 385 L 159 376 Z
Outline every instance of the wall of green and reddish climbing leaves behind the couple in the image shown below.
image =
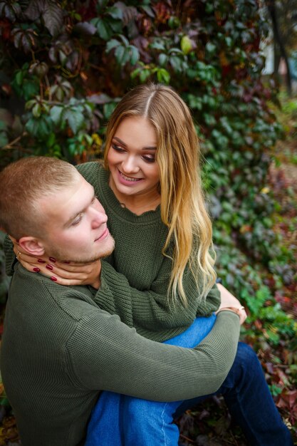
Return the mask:
M 179 6 L 0 1 L 1 94 L 9 108 L 0 144 L 11 159 L 24 151 L 71 162 L 101 156 L 105 125 L 127 88 L 170 83 L 202 140 L 219 274 L 253 318 L 273 299 L 257 265 L 273 274 L 276 289 L 293 277 L 290 253 L 273 232 L 267 186 L 281 130 L 268 102 L 275 85 L 260 76 L 259 43 L 268 29 L 256 0 Z

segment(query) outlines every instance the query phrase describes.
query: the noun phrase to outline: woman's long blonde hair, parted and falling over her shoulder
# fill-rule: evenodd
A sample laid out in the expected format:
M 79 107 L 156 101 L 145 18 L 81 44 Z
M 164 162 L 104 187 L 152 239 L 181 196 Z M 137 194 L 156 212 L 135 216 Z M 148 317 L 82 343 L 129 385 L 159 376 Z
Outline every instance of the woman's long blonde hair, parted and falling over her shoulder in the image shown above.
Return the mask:
M 200 172 L 200 149 L 192 115 L 173 88 L 161 84 L 138 85 L 118 103 L 108 123 L 104 162 L 118 125 L 128 116 L 147 118 L 157 134 L 156 162 L 160 170 L 161 219 L 168 227 L 162 254 L 174 242 L 168 292 L 184 304 L 184 270 L 194 276 L 200 299 L 214 285 L 212 222 L 205 207 Z

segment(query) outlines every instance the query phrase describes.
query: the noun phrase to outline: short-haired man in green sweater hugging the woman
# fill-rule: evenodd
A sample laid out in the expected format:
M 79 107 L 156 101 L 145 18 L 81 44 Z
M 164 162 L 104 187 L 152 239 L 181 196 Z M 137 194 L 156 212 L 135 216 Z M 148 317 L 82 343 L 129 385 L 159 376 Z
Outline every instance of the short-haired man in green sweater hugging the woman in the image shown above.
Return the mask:
M 0 227 L 28 254 L 90 262 L 113 250 L 107 217 L 93 187 L 68 163 L 48 157 L 20 160 L 0 173 L 0 190 Z M 1 374 L 23 446 L 83 445 L 100 390 L 159 401 L 224 390 L 234 400 L 234 412 L 246 398 L 246 410 L 255 412 L 259 394 L 267 407 L 261 367 L 250 349 L 247 354 L 247 346 L 241 365 L 233 365 L 225 380 L 236 355 L 236 313 L 219 312 L 212 332 L 193 350 L 155 343 L 98 307 L 96 293 L 116 298 L 123 292 L 112 280 L 109 264 L 102 262 L 99 272 L 97 291 L 92 286 L 61 286 L 16 262 Z M 240 402 L 231 382 L 242 395 Z M 285 431 L 279 415 L 273 412 L 273 417 Z M 283 432 L 285 437 L 282 444 L 291 445 Z

